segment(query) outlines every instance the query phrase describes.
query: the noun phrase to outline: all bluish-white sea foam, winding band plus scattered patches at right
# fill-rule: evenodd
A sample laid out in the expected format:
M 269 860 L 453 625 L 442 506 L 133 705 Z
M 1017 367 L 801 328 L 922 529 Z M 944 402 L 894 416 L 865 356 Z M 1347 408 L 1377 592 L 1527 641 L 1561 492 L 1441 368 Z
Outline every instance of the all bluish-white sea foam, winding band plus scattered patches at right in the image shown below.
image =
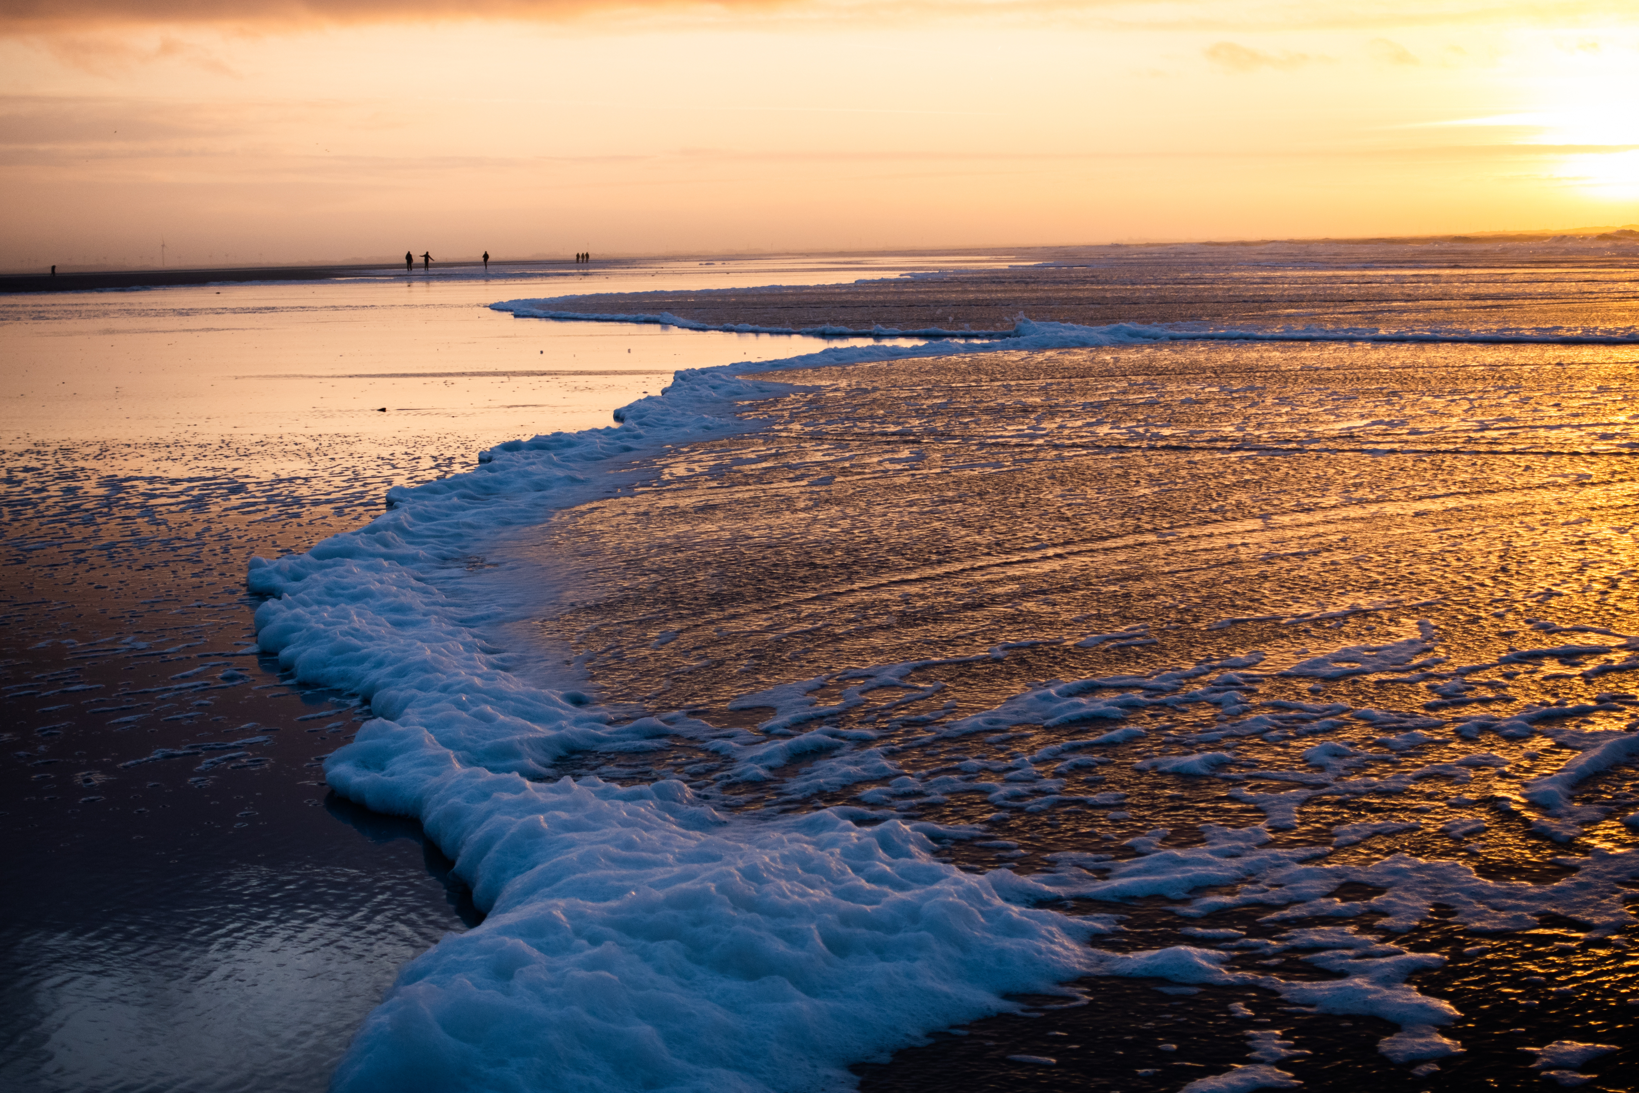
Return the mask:
M 1005 347 L 1183 336 L 1157 331 L 1021 323 Z M 1224 336 L 1231 334 L 1239 336 Z M 846 346 L 783 367 L 980 347 L 998 346 Z M 457 562 L 508 529 L 633 483 L 641 474 L 634 460 L 667 446 L 757 428 L 731 410 L 736 400 L 783 390 L 757 375 L 772 367 L 680 372 L 661 397 L 618 411 L 618 426 L 497 446 L 472 474 L 393 490 L 392 511 L 361 531 L 328 539 L 303 556 L 252 562 L 251 588 L 270 596 L 257 611 L 262 649 L 277 652 L 282 665 L 303 680 L 364 696 L 377 718 L 329 757 L 329 783 L 379 811 L 421 819 L 488 913 L 482 926 L 446 939 L 405 970 L 359 1032 L 338 1072 L 338 1088 L 833 1088 L 849 1082 L 851 1062 L 1005 1009 L 1001 995 L 1008 991 L 1051 991 L 1088 972 L 1162 977 L 1180 985 L 1252 985 L 1323 1013 L 1380 1016 L 1403 1026 L 1385 1039 L 1385 1054 L 1429 1059 L 1457 1050 L 1436 1031 L 1454 1011 L 1405 980 L 1436 967 L 1441 957 L 1383 946 L 1347 929 L 1293 931 L 1270 950 L 1319 949 L 1305 959 L 1342 978 L 1288 982 L 1226 970 L 1229 954 L 1221 949 L 1101 952 L 1087 941 L 1113 929 L 1111 923 L 1031 905 L 1065 896 L 1190 900 L 1206 887 L 1242 885 L 1178 909 L 1205 916 L 1233 906 L 1265 906 L 1267 918 L 1277 923 L 1382 911 L 1388 931 L 1410 929 L 1434 905 L 1454 908 L 1472 929 L 1529 927 L 1549 913 L 1578 918 L 1598 934 L 1631 921 L 1616 883 L 1639 875 L 1636 854 L 1580 859 L 1578 875 L 1555 885 L 1498 883 L 1467 865 L 1403 854 L 1373 865 L 1319 865 L 1311 859 L 1328 855 L 1329 847 L 1269 847 L 1262 826 L 1206 824 L 1205 846 L 1165 847 L 1169 832 L 1157 829 L 1129 841 L 1139 852 L 1133 859 L 1057 855 L 1046 873 L 1026 877 L 998 869 L 974 875 L 931 854 L 931 837 L 969 837 L 972 831 L 936 831 L 860 808 L 801 816 L 724 814 L 672 780 L 624 788 L 595 777 L 547 780 L 554 764 L 572 752 L 647 747 L 662 737 L 693 736 L 733 760 L 724 782 L 756 783 L 793 760 L 810 762 L 782 785 L 785 801 L 888 780 L 869 790 L 864 803 L 887 806 L 975 791 L 998 808 L 1042 810 L 1065 800 L 1116 805 L 1119 793 L 1065 796 L 1067 777 L 1106 762 L 1098 752 L 1136 746 L 1146 732 L 1098 732 L 1092 726 L 1188 703 L 1216 706 L 1223 714 L 1221 728 L 1200 734 L 1200 741 L 1301 736 L 1351 723 L 1393 732 L 1380 737 L 1392 741 L 1387 755 L 1328 742 L 1303 752 L 1301 770 L 1259 772 L 1301 787 L 1278 795 L 1239 793 L 1277 829 L 1295 826 L 1298 808 L 1323 793 L 1392 793 L 1436 777 L 1460 783 L 1472 778 L 1475 767 L 1506 765 L 1490 754 L 1393 765 L 1401 752 L 1414 754 L 1442 739 L 1423 732 L 1442 721 L 1418 714 L 1308 703 L 1272 703 L 1267 713 L 1255 713 L 1249 692 L 1262 678 L 1254 672 L 1262 654 L 1034 687 L 993 710 L 939 726 L 931 737 L 954 741 L 1018 724 L 1092 734 L 1011 762 L 959 764 L 956 772 L 931 777 L 905 773 L 895 759 L 872 747 L 875 732 L 841 732 L 823 721 L 828 713 L 852 708 L 872 688 L 906 687 L 910 672 L 938 664 L 933 660 L 852 669 L 836 678 L 846 688 L 828 706 L 813 700 L 831 682 L 826 678 L 742 696 L 742 705 L 775 710 L 759 726 L 760 734 L 715 731 L 680 714 L 621 723 L 572 685 L 543 685 L 516 670 L 516 659 L 488 639 L 516 605 L 497 598 L 492 577 Z M 1129 629 L 1096 637 L 1129 633 L 1137 634 Z M 1432 646 L 1432 629 L 1423 624 L 1414 637 L 1311 655 L 1282 673 L 1310 680 L 1421 678 L 1442 664 Z M 957 660 L 1005 655 L 1008 649 L 997 647 Z M 1460 732 L 1473 737 L 1490 728 L 1529 736 L 1541 731 L 1539 723 L 1600 708 L 1473 718 Z M 821 724 L 810 728 L 815 723 Z M 1560 773 L 1524 787 L 1526 801 L 1565 813 L 1582 778 L 1632 759 L 1631 739 L 1564 734 L 1560 742 L 1582 755 Z M 1054 777 L 1037 772 L 1037 762 L 1056 764 Z M 1387 775 L 1352 777 L 1378 762 L 1390 764 Z M 1170 780 L 1244 777 L 1233 770 L 1229 751 L 1152 755 L 1136 767 Z M 1575 819 L 1567 813 L 1567 821 Z M 1387 831 L 1380 824 L 1339 828 L 1337 846 Z M 1359 903 L 1331 898 L 1346 883 L 1385 891 Z M 1278 1085 L 1285 1075 L 1260 1062 L 1219 1080 L 1218 1086 L 1201 1088 L 1259 1088 L 1247 1083 Z

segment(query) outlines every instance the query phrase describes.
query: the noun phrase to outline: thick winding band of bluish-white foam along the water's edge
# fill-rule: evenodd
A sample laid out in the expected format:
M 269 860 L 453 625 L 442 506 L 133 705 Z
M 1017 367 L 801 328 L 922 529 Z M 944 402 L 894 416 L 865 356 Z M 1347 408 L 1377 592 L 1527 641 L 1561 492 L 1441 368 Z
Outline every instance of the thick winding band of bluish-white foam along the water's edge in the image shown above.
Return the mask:
M 810 362 L 890 352 L 903 349 Z M 405 970 L 338 1088 L 829 1088 L 851 1062 L 1092 967 L 1085 939 L 1106 926 L 1019 906 L 897 821 L 736 821 L 677 782 L 526 778 L 687 726 L 615 724 L 579 692 L 510 672 L 485 637 L 505 610 L 449 562 L 618 488 L 665 444 L 754 428 L 728 406 L 775 390 L 728 369 L 680 372 L 615 428 L 502 444 L 475 472 L 393 490 L 392 511 L 361 531 L 252 560 L 251 588 L 272 596 L 261 647 L 377 716 L 328 759 L 329 783 L 421 819 L 488 913 Z M 721 746 L 751 772 L 805 741 L 834 742 L 777 739 L 767 759 Z

